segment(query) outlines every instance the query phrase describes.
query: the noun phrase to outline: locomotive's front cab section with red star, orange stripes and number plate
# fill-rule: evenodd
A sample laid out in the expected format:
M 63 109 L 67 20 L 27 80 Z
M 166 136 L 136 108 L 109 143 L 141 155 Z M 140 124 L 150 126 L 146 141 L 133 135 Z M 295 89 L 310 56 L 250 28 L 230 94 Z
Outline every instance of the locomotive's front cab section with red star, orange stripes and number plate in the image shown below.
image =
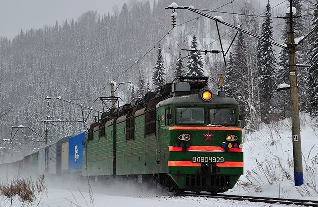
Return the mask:
M 181 191 L 225 192 L 243 174 L 238 103 L 206 85 L 184 77 L 172 85 L 173 97 L 156 106 L 169 176 Z

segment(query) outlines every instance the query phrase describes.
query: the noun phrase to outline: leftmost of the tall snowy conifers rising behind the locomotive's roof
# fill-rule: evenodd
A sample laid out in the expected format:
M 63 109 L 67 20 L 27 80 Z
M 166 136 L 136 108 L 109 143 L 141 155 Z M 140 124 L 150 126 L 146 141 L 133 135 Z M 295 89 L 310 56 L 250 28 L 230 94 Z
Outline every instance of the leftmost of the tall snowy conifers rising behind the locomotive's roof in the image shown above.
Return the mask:
M 158 55 L 157 55 L 157 60 L 155 63 L 155 66 L 153 67 L 153 86 L 155 87 L 161 87 L 165 84 L 165 72 L 164 72 L 164 61 L 163 61 L 163 56 L 162 56 L 162 50 L 161 50 L 161 45 L 158 47 Z

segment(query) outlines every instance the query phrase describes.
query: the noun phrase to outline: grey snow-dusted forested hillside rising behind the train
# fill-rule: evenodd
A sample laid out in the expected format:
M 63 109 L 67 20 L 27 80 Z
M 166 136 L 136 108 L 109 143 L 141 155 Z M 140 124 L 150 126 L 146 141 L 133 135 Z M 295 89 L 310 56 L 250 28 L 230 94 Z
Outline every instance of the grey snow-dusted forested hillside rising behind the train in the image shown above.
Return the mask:
M 300 2 L 300 0 L 295 1 Z M 302 12 L 313 13 L 309 5 L 314 1 L 303 2 Z M 267 8 L 266 11 L 266 7 L 259 5 L 256 0 L 230 2 L 214 0 L 211 4 L 211 0 L 176 0 L 178 5 L 193 5 L 195 8 L 213 10 L 220 7 L 218 11 L 229 13 L 212 12 L 210 14 L 220 15 L 225 21 L 241 25 L 242 28 L 259 35 L 262 31 L 264 32 L 262 28 L 266 28 L 266 25 L 262 25 L 265 18 L 248 15 L 264 15 L 265 12 L 272 16 L 285 15 L 285 7 L 287 7 L 285 3 L 282 4 L 283 8 L 271 5 L 271 8 Z M 220 49 L 215 23 L 203 17 L 196 18 L 198 15 L 189 11 L 177 11 L 178 26 L 171 30 L 171 11 L 164 9 L 169 4 L 171 0 L 155 0 L 152 5 L 149 1 L 132 0 L 122 5 L 120 11 L 114 13 L 98 14 L 87 11 L 79 18 L 66 19 L 64 22 L 56 22 L 55 25 L 36 30 L 23 28 L 12 40 L 0 38 L 0 115 L 5 114 L 0 117 L 0 140 L 10 139 L 11 126 L 18 125 L 29 126 L 43 134 L 44 123 L 41 120 L 45 120 L 48 116 L 54 117 L 52 119 L 55 120 L 81 119 L 80 107 L 59 100 L 47 102 L 45 100 L 47 96 L 61 96 L 77 104 L 102 110 L 101 103 L 98 101 L 93 103 L 93 101 L 99 96 L 110 95 L 109 82 L 111 80 L 117 83 L 131 81 L 132 85 L 122 85 L 116 91 L 118 96 L 129 102 L 133 96 L 140 95 L 141 87 L 148 83 L 149 88 L 153 84 L 151 76 L 159 44 L 167 82 L 174 79 L 177 62 L 178 65 L 183 63 L 186 68 L 188 59 L 182 57 L 187 56 L 188 52 L 181 52 L 181 48 L 190 48 L 193 35 L 197 37 L 198 49 Z M 245 15 L 230 14 L 233 12 Z M 309 15 L 302 18 L 301 28 L 307 29 L 302 32 L 305 33 L 313 27 L 312 17 Z M 272 27 L 270 38 L 283 43 L 283 37 L 286 36 L 283 29 L 285 20 L 272 19 L 267 22 L 270 22 Z M 231 29 L 225 26 L 220 26 L 220 30 L 221 35 L 225 35 L 222 41 L 227 49 L 235 31 L 231 32 Z M 279 37 L 282 39 L 278 39 Z M 243 124 L 251 130 L 257 130 L 262 120 L 258 115 L 262 107 L 260 101 L 266 99 L 266 96 L 261 98 L 259 94 L 259 81 L 264 81 L 259 79 L 257 72 L 258 64 L 261 64 L 258 57 L 263 58 L 262 54 L 257 53 L 259 47 L 261 46 L 257 39 L 239 33 L 231 47 L 231 53 L 229 52 L 226 58 L 229 63 L 228 68 L 225 68 L 220 54 L 202 56 L 204 75 L 217 80 L 218 74 L 227 74 L 225 79 L 228 86 L 227 93 L 239 100 L 242 105 L 241 113 L 246 117 Z M 279 51 L 280 49 L 273 48 L 272 52 L 273 61 L 270 64 L 275 70 L 271 74 L 273 84 L 277 83 Z M 181 52 L 180 55 L 179 52 Z M 304 53 L 302 56 L 299 55 L 299 58 L 302 58 L 300 63 L 307 63 Z M 236 71 L 235 76 L 231 76 L 231 68 L 241 70 Z M 236 80 L 232 80 L 233 77 Z M 301 78 L 304 77 L 307 75 L 304 74 Z M 233 87 L 238 86 L 242 86 L 241 92 L 234 93 Z M 212 83 L 211 87 L 214 92 L 217 91 Z M 271 92 L 276 94 L 274 88 L 275 86 L 271 88 Z M 139 93 L 132 94 L 133 90 L 134 93 L 138 91 Z M 145 92 L 146 89 L 142 91 Z M 306 90 L 303 94 L 306 95 Z M 266 107 L 275 105 L 276 108 L 273 108 L 271 113 L 283 114 L 273 116 L 274 118 L 288 116 L 287 107 L 284 107 L 283 112 L 281 111 L 285 103 L 279 104 L 272 96 L 271 100 L 272 102 L 266 105 Z M 305 109 L 304 106 L 302 110 Z M 266 110 L 267 112 L 262 114 L 267 117 L 268 108 Z M 89 110 L 85 109 L 84 115 L 87 116 L 88 113 Z M 86 127 L 92 122 L 94 116 L 97 116 L 97 113 L 90 114 Z M 49 124 L 48 128 L 49 141 L 55 141 L 59 136 L 78 133 L 83 129 L 83 124 L 54 123 L 54 125 Z M 24 134 L 26 136 L 23 136 Z M 20 147 L 22 147 L 23 138 L 27 140 L 26 151 L 28 152 L 43 145 L 43 139 L 27 129 L 23 129 L 15 136 L 15 143 Z M 0 155 L 6 156 L 9 145 L 2 144 L 0 147 L 2 147 Z M 16 152 L 21 152 L 17 146 L 10 147 Z

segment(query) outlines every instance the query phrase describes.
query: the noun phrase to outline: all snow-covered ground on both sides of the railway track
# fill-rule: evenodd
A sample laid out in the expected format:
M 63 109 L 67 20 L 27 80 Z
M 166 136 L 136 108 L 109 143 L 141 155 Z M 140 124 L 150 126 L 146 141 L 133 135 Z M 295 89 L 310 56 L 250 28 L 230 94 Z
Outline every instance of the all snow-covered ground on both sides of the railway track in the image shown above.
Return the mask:
M 291 121 L 262 124 L 257 132 L 244 134 L 244 175 L 226 194 L 318 200 L 318 129 L 308 114 L 301 115 L 304 185 L 294 187 Z M 245 132 L 244 132 L 245 133 Z M 48 196 L 38 197 L 43 207 L 253 207 L 286 206 L 206 197 L 175 197 L 162 189 L 124 181 L 112 184 L 85 179 L 47 178 Z M 91 190 L 89 190 L 89 184 Z M 0 207 L 10 206 L 0 197 Z M 14 207 L 21 206 L 16 201 Z M 36 203 L 32 206 L 36 206 Z

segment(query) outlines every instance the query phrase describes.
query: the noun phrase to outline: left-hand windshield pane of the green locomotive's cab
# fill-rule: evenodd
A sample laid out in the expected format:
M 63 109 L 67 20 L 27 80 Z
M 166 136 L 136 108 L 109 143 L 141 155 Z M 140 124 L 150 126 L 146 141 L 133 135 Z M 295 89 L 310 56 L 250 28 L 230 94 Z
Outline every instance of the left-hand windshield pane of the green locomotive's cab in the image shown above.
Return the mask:
M 204 108 L 177 108 L 178 124 L 204 124 Z

